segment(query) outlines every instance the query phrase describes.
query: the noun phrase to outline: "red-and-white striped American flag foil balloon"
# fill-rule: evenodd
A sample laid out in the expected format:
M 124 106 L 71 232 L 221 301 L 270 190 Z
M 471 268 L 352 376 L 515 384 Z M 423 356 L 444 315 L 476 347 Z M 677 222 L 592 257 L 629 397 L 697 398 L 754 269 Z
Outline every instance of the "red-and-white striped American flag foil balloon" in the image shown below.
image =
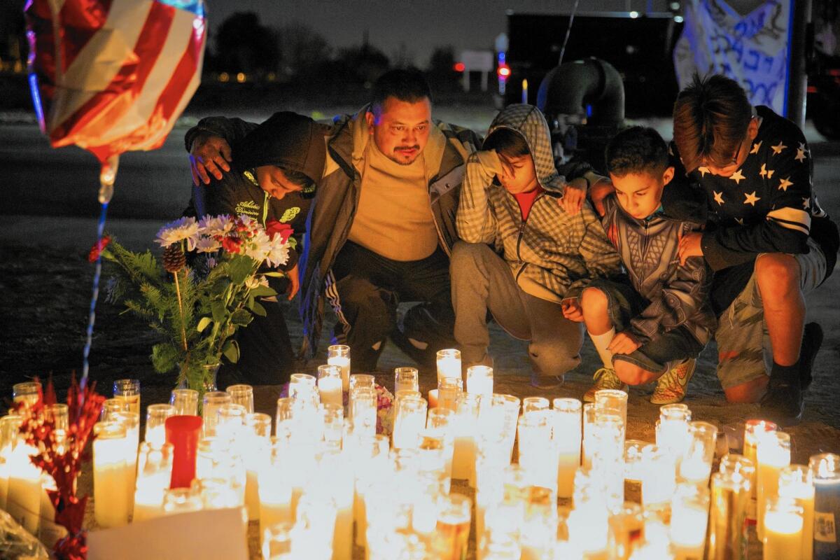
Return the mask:
M 41 129 L 104 163 L 155 149 L 200 81 L 202 0 L 28 0 L 29 86 Z

